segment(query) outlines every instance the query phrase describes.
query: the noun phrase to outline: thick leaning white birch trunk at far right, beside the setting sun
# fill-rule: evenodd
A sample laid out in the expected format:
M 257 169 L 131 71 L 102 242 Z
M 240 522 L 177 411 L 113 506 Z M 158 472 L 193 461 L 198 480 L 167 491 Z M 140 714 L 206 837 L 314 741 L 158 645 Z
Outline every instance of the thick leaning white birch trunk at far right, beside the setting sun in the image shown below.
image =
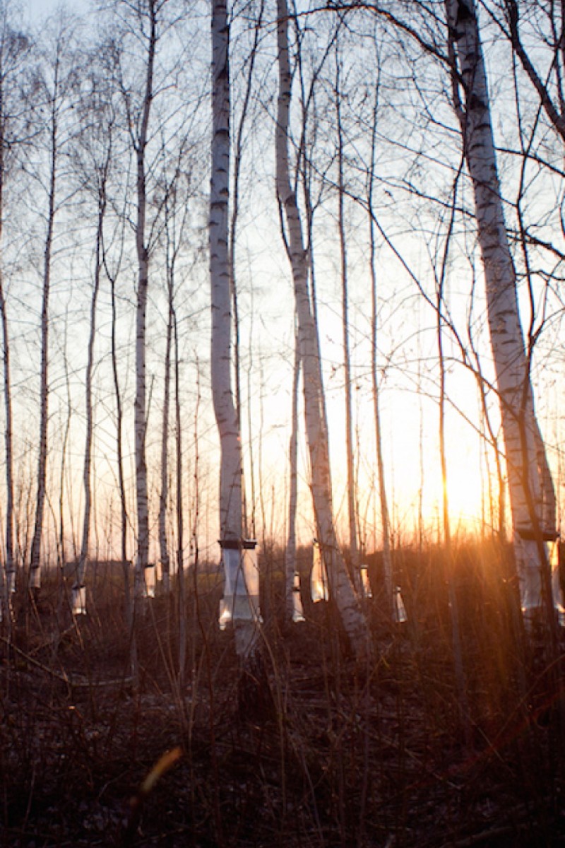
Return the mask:
M 507 238 L 490 123 L 489 94 L 474 0 L 446 0 L 450 49 L 461 75 L 458 109 L 473 181 L 487 312 L 501 402 L 514 550 L 526 617 L 551 608 L 546 546 L 557 538 L 555 493 L 535 419 L 518 310 L 516 270 Z M 458 96 L 458 93 L 457 93 Z M 555 599 L 557 600 L 560 599 Z

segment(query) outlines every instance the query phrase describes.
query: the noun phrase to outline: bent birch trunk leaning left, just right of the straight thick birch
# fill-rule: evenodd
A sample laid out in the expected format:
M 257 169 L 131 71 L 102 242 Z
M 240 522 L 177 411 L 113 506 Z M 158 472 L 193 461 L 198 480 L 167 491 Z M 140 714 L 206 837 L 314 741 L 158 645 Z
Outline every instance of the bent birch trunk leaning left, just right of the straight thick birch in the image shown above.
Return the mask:
M 314 513 L 320 546 L 330 576 L 330 591 L 357 656 L 366 656 L 369 650 L 369 633 L 363 611 L 358 603 L 346 565 L 335 537 L 332 515 L 330 450 L 324 416 L 324 392 L 320 375 L 318 334 L 313 321 L 312 304 L 308 287 L 308 259 L 302 237 L 300 211 L 296 190 L 291 185 L 288 152 L 288 131 L 291 107 L 291 63 L 288 42 L 288 7 L 286 0 L 278 0 L 278 63 L 279 95 L 276 125 L 276 185 L 285 220 L 285 247 L 291 263 L 298 321 L 298 339 L 302 360 L 304 406 L 307 443 L 310 453 L 310 474 Z

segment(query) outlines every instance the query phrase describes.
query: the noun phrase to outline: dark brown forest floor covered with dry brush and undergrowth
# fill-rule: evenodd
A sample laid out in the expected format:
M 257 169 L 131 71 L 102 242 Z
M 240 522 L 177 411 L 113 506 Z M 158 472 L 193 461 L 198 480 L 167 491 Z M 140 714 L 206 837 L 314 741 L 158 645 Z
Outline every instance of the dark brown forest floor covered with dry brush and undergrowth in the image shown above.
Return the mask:
M 413 575 L 405 625 L 368 602 L 361 662 L 331 605 L 290 626 L 274 591 L 252 673 L 218 589 L 191 592 L 184 681 L 178 607 L 151 600 L 137 685 L 114 594 L 75 621 L 56 583 L 23 599 L 0 643 L 0 846 L 565 845 L 563 646 L 519 654 L 504 581 L 469 567 L 459 678 L 441 581 Z

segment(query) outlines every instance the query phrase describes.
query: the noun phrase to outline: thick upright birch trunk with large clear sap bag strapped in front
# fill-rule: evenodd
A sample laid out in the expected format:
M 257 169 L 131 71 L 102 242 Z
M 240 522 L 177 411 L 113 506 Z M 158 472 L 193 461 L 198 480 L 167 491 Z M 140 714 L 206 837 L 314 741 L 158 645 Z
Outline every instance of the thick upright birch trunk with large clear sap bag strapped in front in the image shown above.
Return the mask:
M 219 531 L 225 570 L 224 612 L 233 618 L 235 650 L 250 658 L 258 645 L 256 611 L 246 594 L 241 511 L 241 432 L 231 386 L 231 298 L 228 256 L 230 198 L 230 25 L 226 0 L 212 9 L 212 177 L 210 283 L 212 394 L 219 432 Z M 245 618 L 242 616 L 246 616 Z

